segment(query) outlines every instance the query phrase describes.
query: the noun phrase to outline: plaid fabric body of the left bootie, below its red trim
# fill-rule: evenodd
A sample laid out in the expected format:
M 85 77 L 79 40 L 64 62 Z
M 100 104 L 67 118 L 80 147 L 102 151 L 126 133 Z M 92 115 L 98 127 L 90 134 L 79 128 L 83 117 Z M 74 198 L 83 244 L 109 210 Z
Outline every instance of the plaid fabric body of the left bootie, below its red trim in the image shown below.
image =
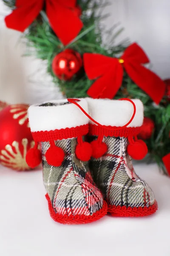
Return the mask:
M 41 143 L 43 180 L 54 211 L 68 216 L 93 215 L 103 207 L 103 198 L 92 180 L 88 162 L 75 156 L 77 138 L 57 140 L 55 144 L 65 151 L 60 167 L 47 163 L 44 155 L 50 144 Z

